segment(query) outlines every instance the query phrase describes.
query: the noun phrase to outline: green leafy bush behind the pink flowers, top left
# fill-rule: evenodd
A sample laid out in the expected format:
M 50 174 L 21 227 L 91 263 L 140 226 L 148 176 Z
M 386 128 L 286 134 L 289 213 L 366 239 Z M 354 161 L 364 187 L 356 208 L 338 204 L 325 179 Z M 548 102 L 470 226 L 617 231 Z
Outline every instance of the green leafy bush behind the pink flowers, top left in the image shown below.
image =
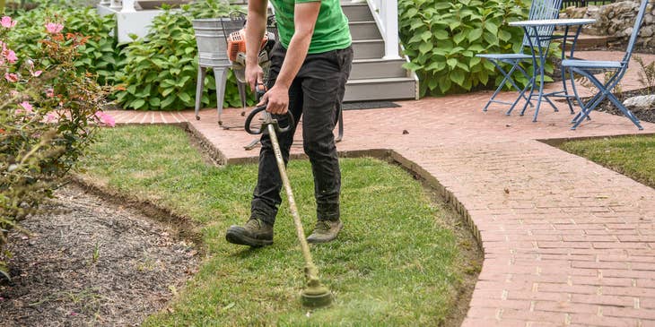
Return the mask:
M 16 51 L 25 56 L 36 56 L 39 52 L 39 40 L 46 36 L 43 25 L 48 20 L 63 22 L 65 32 L 82 33 L 89 36 L 88 41 L 78 47 L 75 66 L 81 73 L 98 75 L 101 84 L 114 84 L 115 72 L 125 65 L 116 38 L 110 36 L 116 27 L 113 15 L 100 16 L 92 7 L 72 7 L 58 4 L 41 4 L 29 12 L 16 12 L 16 21 L 22 28 L 13 30 L 8 41 Z

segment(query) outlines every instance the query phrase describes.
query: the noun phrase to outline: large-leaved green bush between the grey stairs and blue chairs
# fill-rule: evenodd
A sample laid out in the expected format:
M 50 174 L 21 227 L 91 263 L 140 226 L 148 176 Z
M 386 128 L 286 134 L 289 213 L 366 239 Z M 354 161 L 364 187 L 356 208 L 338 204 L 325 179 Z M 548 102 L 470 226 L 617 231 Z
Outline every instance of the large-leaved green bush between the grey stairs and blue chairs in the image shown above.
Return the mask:
M 520 52 L 523 30 L 507 23 L 527 19 L 528 7 L 525 0 L 400 0 L 400 37 L 411 58 L 406 68 L 419 75 L 421 95 L 498 85 L 500 73 L 476 54 Z

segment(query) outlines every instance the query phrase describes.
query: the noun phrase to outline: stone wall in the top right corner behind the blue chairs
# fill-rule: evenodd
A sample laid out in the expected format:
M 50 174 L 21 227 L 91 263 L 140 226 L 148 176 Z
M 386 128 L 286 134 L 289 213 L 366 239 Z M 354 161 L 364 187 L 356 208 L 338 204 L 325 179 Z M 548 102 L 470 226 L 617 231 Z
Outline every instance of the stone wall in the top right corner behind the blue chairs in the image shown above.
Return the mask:
M 566 8 L 561 18 L 593 18 L 596 23 L 583 28 L 590 35 L 610 36 L 627 41 L 633 33 L 640 1 L 628 0 L 614 4 L 589 5 L 586 8 Z M 646 8 L 642 30 L 637 44 L 655 45 L 655 10 L 651 4 Z

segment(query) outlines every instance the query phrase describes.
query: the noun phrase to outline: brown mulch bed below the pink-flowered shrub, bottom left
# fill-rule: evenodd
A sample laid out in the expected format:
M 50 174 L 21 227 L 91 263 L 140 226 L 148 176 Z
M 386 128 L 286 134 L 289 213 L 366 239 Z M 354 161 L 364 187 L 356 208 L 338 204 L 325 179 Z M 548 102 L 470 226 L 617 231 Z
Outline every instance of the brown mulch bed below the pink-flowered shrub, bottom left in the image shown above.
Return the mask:
M 135 209 L 77 186 L 57 191 L 54 208 L 22 222 L 31 237 L 10 235 L 5 327 L 138 325 L 196 272 L 193 243 Z

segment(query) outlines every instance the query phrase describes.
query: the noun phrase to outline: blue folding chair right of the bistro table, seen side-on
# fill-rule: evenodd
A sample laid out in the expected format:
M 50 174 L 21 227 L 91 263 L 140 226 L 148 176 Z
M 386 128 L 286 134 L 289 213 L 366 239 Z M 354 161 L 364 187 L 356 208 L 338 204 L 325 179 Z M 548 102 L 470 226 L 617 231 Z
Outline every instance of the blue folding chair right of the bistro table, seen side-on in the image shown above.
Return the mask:
M 643 17 L 646 13 L 646 6 L 648 5 L 649 0 L 642 0 L 642 4 L 639 7 L 639 13 L 637 14 L 637 19 L 634 22 L 633 34 L 630 36 L 630 41 L 628 42 L 628 47 L 625 51 L 625 56 L 621 61 L 596 61 L 596 60 L 575 60 L 569 59 L 562 62 L 563 69 L 568 69 L 571 75 L 572 89 L 575 94 L 575 99 L 577 99 L 578 104 L 580 104 L 581 111 L 577 116 L 573 118 L 572 121 L 572 130 L 575 130 L 585 118 L 589 118 L 589 113 L 598 107 L 598 105 L 605 99 L 609 99 L 625 116 L 630 118 L 634 125 L 636 125 L 640 130 L 643 129 L 642 125 L 639 124 L 639 119 L 633 115 L 633 113 L 624 107 L 624 105 L 616 99 L 616 96 L 611 93 L 616 85 L 621 82 L 625 72 L 628 69 L 628 63 L 630 62 L 630 57 L 633 56 L 634 43 L 637 40 L 637 35 L 639 30 L 642 27 Z M 606 82 L 598 81 L 598 78 L 594 76 L 595 73 L 607 73 L 614 72 L 614 74 L 606 79 Z M 587 104 L 585 104 L 580 98 L 580 94 L 575 88 L 574 73 L 578 73 L 593 83 L 598 88 L 598 93 L 592 97 Z

